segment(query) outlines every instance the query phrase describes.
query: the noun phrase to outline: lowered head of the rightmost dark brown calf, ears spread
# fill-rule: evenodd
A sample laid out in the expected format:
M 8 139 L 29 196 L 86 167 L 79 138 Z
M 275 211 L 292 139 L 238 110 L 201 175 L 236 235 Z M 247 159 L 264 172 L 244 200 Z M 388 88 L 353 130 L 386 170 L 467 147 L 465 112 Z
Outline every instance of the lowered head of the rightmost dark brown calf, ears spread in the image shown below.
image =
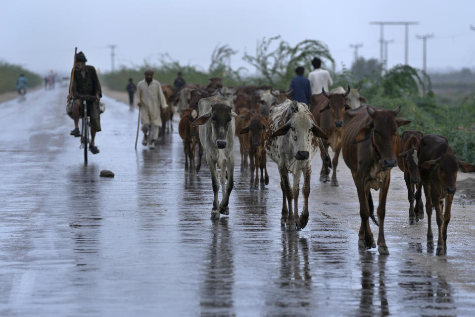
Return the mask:
M 475 171 L 474 165 L 458 160 L 453 154 L 444 154 L 438 159 L 427 160 L 422 162 L 420 167 L 437 173 L 442 190 L 446 194 L 455 194 L 455 182 L 459 168 L 464 173 Z

